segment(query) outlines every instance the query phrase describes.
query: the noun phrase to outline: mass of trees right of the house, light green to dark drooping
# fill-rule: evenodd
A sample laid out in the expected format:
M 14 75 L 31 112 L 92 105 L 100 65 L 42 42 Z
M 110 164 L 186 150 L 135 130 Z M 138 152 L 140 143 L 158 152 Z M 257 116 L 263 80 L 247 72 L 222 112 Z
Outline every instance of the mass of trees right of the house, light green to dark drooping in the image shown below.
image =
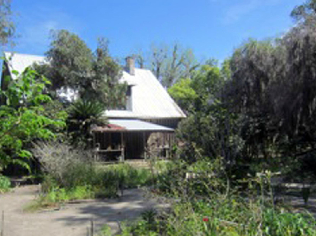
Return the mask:
M 221 68 L 203 65 L 168 90 L 188 113 L 178 130 L 186 159 L 198 151 L 244 174 L 299 166 L 316 174 L 314 1 L 292 16 L 298 9 L 302 18 L 282 38 L 249 39 Z

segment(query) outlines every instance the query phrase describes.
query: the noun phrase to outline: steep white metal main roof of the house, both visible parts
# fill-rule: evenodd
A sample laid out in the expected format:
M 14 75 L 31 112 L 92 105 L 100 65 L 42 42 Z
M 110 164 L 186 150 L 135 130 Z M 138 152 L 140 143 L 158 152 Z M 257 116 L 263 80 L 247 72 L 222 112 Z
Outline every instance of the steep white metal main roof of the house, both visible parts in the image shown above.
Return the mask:
M 33 56 L 5 52 L 5 57 L 9 60 L 10 72 L 12 69 L 20 73 L 34 62 L 47 63 L 44 56 Z M 12 73 L 11 73 L 12 75 Z M 14 75 L 12 75 L 14 78 Z M 135 68 L 135 75 L 123 71 L 121 81 L 126 81 L 132 85 L 132 109 L 131 111 L 107 110 L 105 115 L 109 118 L 184 118 L 184 112 L 173 101 L 168 92 L 162 87 L 154 74 L 147 69 Z

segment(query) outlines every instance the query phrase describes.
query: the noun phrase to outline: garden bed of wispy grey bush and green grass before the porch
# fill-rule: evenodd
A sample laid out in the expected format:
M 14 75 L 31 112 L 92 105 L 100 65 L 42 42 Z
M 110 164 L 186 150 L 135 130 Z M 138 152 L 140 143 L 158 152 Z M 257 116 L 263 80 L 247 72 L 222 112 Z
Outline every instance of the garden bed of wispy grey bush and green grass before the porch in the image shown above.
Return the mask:
M 99 167 L 89 161 L 87 152 L 58 142 L 34 144 L 33 154 L 46 172 L 40 206 L 75 199 L 117 198 L 119 190 L 123 195 L 124 188 L 146 185 L 152 179 L 149 170 L 127 164 Z

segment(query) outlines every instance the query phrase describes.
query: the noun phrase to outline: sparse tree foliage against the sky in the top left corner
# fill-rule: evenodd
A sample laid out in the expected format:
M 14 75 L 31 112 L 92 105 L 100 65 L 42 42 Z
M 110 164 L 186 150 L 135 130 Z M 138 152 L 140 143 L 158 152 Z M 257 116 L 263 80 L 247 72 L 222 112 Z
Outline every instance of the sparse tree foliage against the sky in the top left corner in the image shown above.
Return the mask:
M 12 20 L 11 0 L 0 1 L 0 44 L 8 44 L 15 35 Z M 12 42 L 12 41 L 11 41 Z

